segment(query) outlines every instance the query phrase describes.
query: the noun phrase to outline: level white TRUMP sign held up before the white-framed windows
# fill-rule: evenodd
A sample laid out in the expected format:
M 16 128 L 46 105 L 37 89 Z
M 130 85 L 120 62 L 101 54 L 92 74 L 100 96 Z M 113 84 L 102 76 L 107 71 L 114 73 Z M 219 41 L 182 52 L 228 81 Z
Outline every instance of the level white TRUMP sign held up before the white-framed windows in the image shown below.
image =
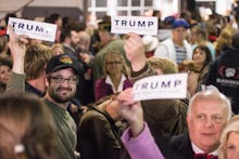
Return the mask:
M 111 32 L 135 32 L 138 35 L 156 36 L 158 18 L 147 16 L 113 16 L 111 18 Z

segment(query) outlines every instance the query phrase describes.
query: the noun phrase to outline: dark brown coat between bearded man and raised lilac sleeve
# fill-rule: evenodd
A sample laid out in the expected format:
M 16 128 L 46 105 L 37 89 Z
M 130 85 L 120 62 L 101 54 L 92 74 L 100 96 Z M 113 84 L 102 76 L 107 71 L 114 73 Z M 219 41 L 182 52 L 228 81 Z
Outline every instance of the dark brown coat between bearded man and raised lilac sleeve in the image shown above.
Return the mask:
M 114 122 L 100 108 L 90 107 L 83 115 L 77 132 L 81 159 L 129 159 Z

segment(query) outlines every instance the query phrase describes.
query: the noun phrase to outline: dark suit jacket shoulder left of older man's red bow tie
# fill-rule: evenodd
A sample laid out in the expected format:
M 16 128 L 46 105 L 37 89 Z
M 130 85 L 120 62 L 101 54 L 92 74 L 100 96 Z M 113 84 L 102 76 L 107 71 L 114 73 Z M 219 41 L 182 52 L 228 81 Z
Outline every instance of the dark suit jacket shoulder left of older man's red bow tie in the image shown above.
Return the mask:
M 172 137 L 169 141 L 169 159 L 193 159 L 194 153 L 188 133 Z

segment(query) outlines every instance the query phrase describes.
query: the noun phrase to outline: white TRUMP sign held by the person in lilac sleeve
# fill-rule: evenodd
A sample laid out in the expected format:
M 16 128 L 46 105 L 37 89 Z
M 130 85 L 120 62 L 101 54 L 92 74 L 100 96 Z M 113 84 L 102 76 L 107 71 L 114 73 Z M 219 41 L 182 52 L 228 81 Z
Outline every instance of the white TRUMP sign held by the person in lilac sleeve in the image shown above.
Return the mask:
M 135 82 L 134 100 L 185 98 L 188 74 L 150 76 Z

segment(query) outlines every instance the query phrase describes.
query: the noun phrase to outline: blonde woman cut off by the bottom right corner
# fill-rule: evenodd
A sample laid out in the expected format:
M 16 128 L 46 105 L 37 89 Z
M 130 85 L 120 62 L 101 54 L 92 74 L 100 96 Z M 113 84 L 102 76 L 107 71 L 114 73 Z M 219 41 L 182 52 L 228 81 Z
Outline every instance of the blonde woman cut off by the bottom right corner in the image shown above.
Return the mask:
M 239 115 L 232 117 L 221 136 L 219 159 L 239 158 Z

